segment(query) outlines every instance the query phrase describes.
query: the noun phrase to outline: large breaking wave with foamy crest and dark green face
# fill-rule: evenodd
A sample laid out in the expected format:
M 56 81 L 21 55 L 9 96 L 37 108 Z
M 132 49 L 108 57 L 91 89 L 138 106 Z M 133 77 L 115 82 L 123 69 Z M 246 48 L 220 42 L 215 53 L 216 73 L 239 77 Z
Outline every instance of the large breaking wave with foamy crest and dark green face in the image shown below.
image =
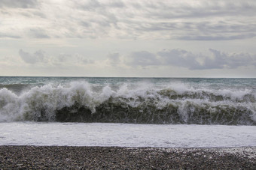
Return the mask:
M 256 94 L 246 88 L 72 82 L 18 85 L 15 93 L 9 86 L 0 89 L 0 121 L 256 125 Z

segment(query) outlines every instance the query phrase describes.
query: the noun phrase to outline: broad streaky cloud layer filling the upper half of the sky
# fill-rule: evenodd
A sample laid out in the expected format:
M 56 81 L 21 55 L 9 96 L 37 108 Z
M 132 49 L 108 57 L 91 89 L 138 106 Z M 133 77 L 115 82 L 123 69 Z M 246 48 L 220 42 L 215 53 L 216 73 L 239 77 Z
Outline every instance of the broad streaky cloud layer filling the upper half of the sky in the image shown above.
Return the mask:
M 254 0 L 2 0 L 0 7 L 0 32 L 22 37 L 242 40 L 256 31 Z

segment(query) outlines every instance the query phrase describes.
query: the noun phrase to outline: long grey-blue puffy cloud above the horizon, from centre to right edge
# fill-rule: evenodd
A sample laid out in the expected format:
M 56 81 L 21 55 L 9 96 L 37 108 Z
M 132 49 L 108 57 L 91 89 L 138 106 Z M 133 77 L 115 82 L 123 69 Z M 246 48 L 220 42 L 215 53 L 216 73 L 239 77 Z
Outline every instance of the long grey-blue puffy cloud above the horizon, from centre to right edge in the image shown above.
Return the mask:
M 256 55 L 248 53 L 225 53 L 209 49 L 210 55 L 194 54 L 184 49 L 163 49 L 156 53 L 147 51 L 132 52 L 130 55 L 111 55 L 112 66 L 125 64 L 130 67 L 184 67 L 189 70 L 236 69 L 238 67 L 256 67 Z M 109 56 L 108 56 L 109 58 Z

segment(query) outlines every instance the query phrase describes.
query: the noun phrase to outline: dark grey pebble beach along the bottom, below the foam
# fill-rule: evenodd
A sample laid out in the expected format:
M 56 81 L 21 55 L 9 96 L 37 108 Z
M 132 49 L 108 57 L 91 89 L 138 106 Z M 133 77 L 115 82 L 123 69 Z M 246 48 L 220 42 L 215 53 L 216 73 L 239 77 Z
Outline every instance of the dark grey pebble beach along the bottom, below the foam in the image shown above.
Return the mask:
M 256 147 L 2 145 L 0 169 L 256 169 Z

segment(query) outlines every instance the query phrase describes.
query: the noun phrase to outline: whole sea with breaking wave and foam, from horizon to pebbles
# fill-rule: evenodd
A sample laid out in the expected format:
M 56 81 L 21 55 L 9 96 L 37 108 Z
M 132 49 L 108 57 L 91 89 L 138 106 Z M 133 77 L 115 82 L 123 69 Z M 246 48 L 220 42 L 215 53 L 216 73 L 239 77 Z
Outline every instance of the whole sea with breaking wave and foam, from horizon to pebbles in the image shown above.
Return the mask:
M 0 76 L 0 145 L 256 146 L 256 79 Z

